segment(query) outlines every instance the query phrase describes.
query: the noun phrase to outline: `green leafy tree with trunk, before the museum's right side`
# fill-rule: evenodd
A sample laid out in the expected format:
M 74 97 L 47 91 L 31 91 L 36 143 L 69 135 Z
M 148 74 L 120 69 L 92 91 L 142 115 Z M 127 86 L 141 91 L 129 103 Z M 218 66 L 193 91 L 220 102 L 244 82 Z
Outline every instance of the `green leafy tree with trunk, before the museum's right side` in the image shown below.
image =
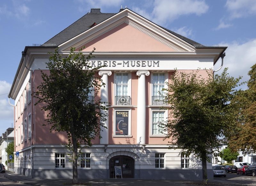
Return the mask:
M 199 71 L 175 72 L 172 76 L 165 90 L 171 119 L 163 126 L 169 148 L 195 153 L 202 161 L 203 182 L 207 182 L 206 163 L 211 161 L 211 154 L 218 155 L 214 152 L 219 146 L 218 136 L 223 136 L 235 120 L 229 102 L 240 78 L 230 77 L 227 69 L 214 77 L 208 72 L 208 78 L 198 75 Z

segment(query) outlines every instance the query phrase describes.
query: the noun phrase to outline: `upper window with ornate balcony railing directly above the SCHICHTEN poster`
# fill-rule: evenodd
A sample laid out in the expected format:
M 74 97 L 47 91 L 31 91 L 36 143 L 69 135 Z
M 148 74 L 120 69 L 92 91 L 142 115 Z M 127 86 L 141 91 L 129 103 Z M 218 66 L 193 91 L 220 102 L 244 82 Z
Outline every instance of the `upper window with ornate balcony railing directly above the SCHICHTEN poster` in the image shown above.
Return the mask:
M 131 105 L 131 97 L 129 92 L 129 74 L 115 74 L 115 104 L 116 105 Z

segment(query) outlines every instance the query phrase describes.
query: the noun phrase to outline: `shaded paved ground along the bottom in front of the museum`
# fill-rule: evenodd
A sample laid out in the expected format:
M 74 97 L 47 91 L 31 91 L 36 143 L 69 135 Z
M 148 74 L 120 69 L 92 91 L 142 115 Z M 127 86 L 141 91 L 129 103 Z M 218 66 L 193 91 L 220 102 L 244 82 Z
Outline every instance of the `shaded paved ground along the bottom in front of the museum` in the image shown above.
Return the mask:
M 6 171 L 6 173 L 1 173 L 0 177 L 4 176 L 13 182 L 19 182 L 27 185 L 36 185 L 36 186 L 68 186 L 72 185 L 72 179 L 33 179 L 29 178 L 25 175 L 20 175 L 16 173 L 12 173 Z M 197 181 L 175 181 L 175 180 L 139 180 L 132 178 L 118 178 L 118 179 L 79 179 L 79 186 L 87 185 L 87 186 L 202 186 L 201 182 Z M 225 181 L 225 180 L 210 180 L 208 186 L 211 185 L 225 185 L 225 186 L 243 186 L 242 184 Z M 75 186 L 75 185 L 73 185 Z

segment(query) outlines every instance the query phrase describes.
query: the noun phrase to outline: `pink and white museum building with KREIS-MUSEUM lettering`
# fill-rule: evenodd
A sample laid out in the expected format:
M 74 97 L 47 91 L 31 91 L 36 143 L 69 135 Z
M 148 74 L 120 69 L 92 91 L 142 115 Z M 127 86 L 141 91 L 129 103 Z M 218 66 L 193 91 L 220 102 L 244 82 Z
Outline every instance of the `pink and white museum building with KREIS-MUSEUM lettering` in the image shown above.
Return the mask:
M 55 34 L 55 33 L 53 33 Z M 72 178 L 65 133 L 49 132 L 46 113 L 31 92 L 47 71 L 48 52 L 59 47 L 67 55 L 71 47 L 88 55 L 93 47 L 92 66 L 106 65 L 96 74 L 105 87 L 100 97 L 110 102 L 102 138 L 82 149 L 79 178 L 113 178 L 114 166 L 124 177 L 138 179 L 202 180 L 201 161 L 168 149 L 158 121 L 169 111 L 161 110 L 164 97 L 158 91 L 170 82 L 174 69 L 190 73 L 201 69 L 207 77 L 227 47 L 205 47 L 182 35 L 160 27 L 129 9 L 101 13 L 91 9 L 72 25 L 43 45 L 26 46 L 9 97 L 15 100 L 15 172 L 33 178 Z M 28 69 L 29 70 L 28 70 Z M 166 105 L 168 106 L 168 105 Z M 207 164 L 208 177 L 212 164 Z

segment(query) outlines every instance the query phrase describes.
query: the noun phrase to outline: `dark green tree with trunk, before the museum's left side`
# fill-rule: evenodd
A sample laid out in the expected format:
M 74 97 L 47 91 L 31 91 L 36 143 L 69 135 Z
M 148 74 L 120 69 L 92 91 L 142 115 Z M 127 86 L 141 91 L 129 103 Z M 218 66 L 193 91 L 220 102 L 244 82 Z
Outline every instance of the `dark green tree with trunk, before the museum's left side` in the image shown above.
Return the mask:
M 73 183 L 78 182 L 77 159 L 82 145 L 91 146 L 92 139 L 100 135 L 108 104 L 94 100 L 105 84 L 95 76 L 100 67 L 92 68 L 89 63 L 92 53 L 85 56 L 81 51 L 71 48 L 69 55 L 62 57 L 57 48 L 46 63 L 49 73 L 41 71 L 43 81 L 34 93 L 38 98 L 36 104 L 42 103 L 42 110 L 47 112 L 46 121 L 51 131 L 67 133 L 67 146 L 72 152 Z M 92 89 L 94 96 L 90 97 Z

